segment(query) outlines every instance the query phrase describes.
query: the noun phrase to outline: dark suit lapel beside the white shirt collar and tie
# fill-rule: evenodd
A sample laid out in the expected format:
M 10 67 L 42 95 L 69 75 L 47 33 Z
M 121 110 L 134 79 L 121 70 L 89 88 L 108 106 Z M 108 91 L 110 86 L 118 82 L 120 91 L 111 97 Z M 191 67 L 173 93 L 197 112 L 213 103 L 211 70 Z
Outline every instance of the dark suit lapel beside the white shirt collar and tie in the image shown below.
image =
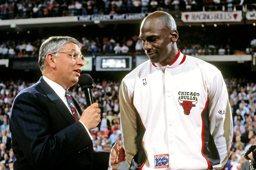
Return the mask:
M 70 111 L 60 99 L 60 97 L 54 92 L 54 90 L 49 86 L 49 84 L 44 81 L 41 77 L 38 81 L 38 85 L 43 90 L 45 95 L 49 98 L 49 100 L 55 103 L 56 109 L 63 116 L 63 118 L 67 121 L 68 124 L 75 123 L 74 117 L 70 114 Z

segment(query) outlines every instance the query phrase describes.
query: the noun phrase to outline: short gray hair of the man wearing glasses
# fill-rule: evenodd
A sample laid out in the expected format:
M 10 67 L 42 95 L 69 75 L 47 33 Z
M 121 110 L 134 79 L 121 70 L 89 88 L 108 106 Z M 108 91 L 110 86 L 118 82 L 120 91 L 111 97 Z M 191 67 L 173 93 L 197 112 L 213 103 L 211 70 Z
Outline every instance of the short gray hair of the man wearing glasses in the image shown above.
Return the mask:
M 49 39 L 45 40 L 39 50 L 39 67 L 40 70 L 43 71 L 45 68 L 46 63 L 46 55 L 49 53 L 58 53 L 60 50 L 64 49 L 64 45 L 68 43 L 74 43 L 81 48 L 80 43 L 72 38 L 72 37 L 50 37 Z M 55 55 L 56 57 L 58 54 Z

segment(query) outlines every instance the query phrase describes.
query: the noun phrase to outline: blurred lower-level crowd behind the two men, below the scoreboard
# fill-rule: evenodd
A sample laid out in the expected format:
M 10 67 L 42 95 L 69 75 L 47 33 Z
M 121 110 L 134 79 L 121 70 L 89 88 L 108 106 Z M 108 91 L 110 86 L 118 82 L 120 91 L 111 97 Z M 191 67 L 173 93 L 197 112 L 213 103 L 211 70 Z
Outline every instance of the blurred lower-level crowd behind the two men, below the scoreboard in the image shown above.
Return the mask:
M 96 75 L 93 75 L 96 77 Z M 243 157 L 245 151 L 251 145 L 256 145 L 256 83 L 245 78 L 224 78 L 229 93 L 229 101 L 234 122 L 234 139 L 231 148 L 230 159 L 226 169 L 237 170 L 247 160 Z M 101 109 L 101 122 L 91 130 L 95 150 L 109 151 L 113 144 L 121 140 L 120 113 L 119 113 L 119 86 L 120 81 L 93 79 L 93 99 Z M 10 132 L 8 117 L 15 96 L 23 89 L 32 86 L 35 82 L 23 80 L 0 80 L 0 164 L 12 166 L 12 150 L 10 146 Z M 87 108 L 84 93 L 79 84 L 69 89 L 82 109 Z M 5 138 L 5 139 L 4 139 Z M 2 165 L 3 164 L 3 165 Z M 127 168 L 126 163 L 114 166 Z M 1 169 L 0 167 L 0 169 Z M 120 167 L 119 167 L 120 168 Z

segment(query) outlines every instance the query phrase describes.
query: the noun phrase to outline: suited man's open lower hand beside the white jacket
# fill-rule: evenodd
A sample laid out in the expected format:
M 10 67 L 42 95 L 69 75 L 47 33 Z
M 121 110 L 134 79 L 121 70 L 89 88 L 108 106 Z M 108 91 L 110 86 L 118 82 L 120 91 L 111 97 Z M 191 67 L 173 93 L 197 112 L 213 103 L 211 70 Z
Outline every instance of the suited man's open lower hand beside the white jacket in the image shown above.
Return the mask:
M 123 146 L 118 147 L 120 144 L 121 144 L 121 141 L 119 140 L 118 142 L 115 143 L 115 145 L 110 151 L 111 165 L 119 164 L 123 161 L 126 161 L 124 147 Z

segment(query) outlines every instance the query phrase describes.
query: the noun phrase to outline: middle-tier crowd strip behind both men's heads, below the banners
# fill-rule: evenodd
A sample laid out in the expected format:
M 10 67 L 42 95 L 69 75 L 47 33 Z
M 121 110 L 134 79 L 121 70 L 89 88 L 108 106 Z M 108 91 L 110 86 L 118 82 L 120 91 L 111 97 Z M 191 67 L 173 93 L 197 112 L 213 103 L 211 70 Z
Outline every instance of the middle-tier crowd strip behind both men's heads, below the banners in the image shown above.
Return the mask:
M 0 59 L 21 58 L 21 57 L 38 57 L 41 43 L 45 39 L 9 39 L 0 40 Z M 78 39 L 81 44 L 81 52 L 84 56 L 100 56 L 100 55 L 144 55 L 140 38 L 137 35 L 130 37 L 83 37 Z M 251 41 L 251 40 L 250 40 Z M 248 40 L 248 48 L 241 51 L 244 54 L 250 54 L 252 45 Z M 227 43 L 225 43 L 227 42 Z M 221 43 L 213 44 L 186 44 L 178 40 L 177 46 L 185 55 L 232 55 L 237 51 L 228 43 L 229 40 L 223 40 Z

